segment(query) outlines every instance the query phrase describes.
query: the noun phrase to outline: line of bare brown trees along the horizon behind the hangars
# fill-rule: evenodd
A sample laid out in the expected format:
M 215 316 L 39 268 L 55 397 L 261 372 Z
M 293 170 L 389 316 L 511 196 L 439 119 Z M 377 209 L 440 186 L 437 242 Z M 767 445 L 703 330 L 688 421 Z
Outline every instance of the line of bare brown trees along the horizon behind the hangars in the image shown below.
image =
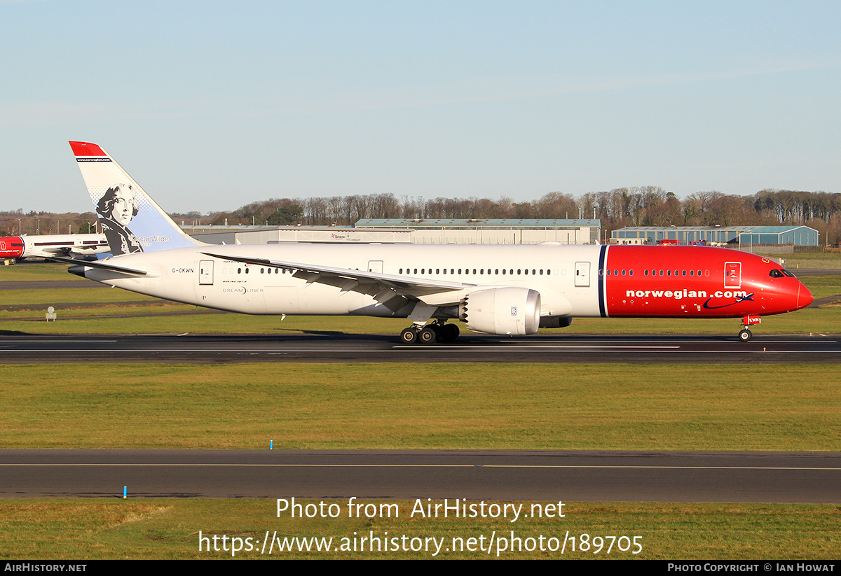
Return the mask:
M 514 202 L 489 198 L 423 198 L 391 193 L 271 198 L 231 212 L 171 214 L 177 223 L 350 226 L 365 218 L 598 218 L 610 233 L 628 226 L 773 226 L 805 224 L 817 229 L 821 243 L 841 241 L 841 193 L 763 190 L 752 196 L 695 192 L 680 200 L 658 186 L 616 188 L 572 196 L 550 192 L 538 200 Z M 0 212 L 0 235 L 87 233 L 93 212 Z

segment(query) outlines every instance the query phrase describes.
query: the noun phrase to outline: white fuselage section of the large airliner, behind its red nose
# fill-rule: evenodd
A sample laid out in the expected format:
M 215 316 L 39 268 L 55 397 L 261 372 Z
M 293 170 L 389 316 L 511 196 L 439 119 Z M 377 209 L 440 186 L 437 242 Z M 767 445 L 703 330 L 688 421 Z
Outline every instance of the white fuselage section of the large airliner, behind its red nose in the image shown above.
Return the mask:
M 290 270 L 242 264 L 202 253 L 351 270 L 409 279 L 459 282 L 461 291 L 442 291 L 419 300 L 431 306 L 458 303 L 470 292 L 495 286 L 537 290 L 541 316 L 600 316 L 597 273 L 600 246 L 482 246 L 416 244 L 265 244 L 203 246 L 124 254 L 107 262 L 145 270 L 124 277 L 88 269 L 85 276 L 125 290 L 168 300 L 246 314 L 319 314 L 406 317 L 410 308 L 391 309 L 382 298 L 319 282 Z M 584 274 L 587 276 L 584 277 Z

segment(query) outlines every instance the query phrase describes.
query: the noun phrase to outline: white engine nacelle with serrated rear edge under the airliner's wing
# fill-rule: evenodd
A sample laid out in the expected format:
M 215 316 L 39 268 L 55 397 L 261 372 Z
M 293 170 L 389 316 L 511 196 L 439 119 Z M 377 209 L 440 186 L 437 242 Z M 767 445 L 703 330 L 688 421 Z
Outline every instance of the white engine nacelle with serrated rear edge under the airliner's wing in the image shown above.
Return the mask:
M 473 332 L 533 334 L 540 327 L 540 292 L 528 288 L 471 292 L 458 305 L 458 317 Z

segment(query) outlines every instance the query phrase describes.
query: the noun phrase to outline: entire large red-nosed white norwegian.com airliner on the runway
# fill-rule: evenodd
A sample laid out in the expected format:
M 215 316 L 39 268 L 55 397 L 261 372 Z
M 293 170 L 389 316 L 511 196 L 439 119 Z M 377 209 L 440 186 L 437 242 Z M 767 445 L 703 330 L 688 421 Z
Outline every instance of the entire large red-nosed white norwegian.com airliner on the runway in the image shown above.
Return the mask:
M 98 145 L 71 142 L 114 258 L 74 274 L 173 301 L 246 314 L 408 318 L 405 343 L 532 334 L 573 317 L 741 318 L 812 302 L 790 272 L 731 249 L 662 246 L 259 244 L 183 233 Z

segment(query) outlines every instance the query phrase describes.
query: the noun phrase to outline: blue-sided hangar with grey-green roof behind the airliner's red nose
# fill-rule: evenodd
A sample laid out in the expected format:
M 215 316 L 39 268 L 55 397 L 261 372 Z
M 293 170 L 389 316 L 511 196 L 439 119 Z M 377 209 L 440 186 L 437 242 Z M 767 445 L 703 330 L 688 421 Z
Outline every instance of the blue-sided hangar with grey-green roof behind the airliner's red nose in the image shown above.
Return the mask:
M 637 226 L 618 228 L 611 233 L 611 243 L 656 244 L 664 240 L 680 244 L 707 243 L 711 246 L 750 249 L 758 245 L 791 247 L 818 246 L 818 233 L 808 226 Z

